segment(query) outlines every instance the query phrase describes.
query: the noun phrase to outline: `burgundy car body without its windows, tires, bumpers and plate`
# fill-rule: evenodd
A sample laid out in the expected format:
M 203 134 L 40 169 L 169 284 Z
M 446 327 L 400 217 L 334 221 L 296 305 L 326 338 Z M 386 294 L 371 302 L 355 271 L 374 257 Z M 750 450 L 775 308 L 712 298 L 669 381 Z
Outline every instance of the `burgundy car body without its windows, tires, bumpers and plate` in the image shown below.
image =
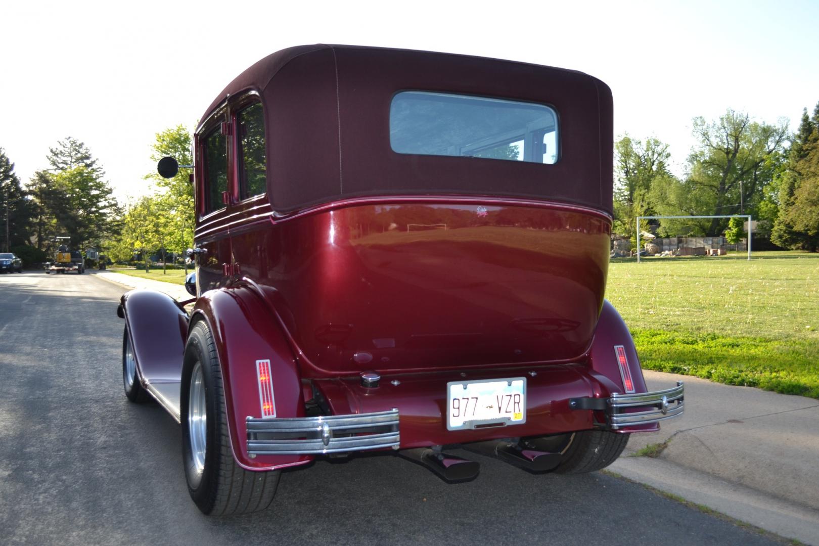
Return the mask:
M 548 105 L 559 155 L 543 165 L 398 153 L 390 108 L 405 90 Z M 266 186 L 243 198 L 237 115 L 249 104 L 264 112 Z M 196 304 L 188 315 L 168 296 L 132 291 L 120 315 L 139 380 L 177 419 L 188 325 L 207 324 L 242 467 L 312 460 L 251 453 L 248 427 L 306 418 L 317 400 L 333 416 L 397 409 L 392 449 L 656 431 L 671 416 L 667 400 L 681 409 L 680 387 L 662 403 L 624 404 L 621 413 L 645 413 L 642 421 L 612 418 L 618 395 L 646 387 L 631 336 L 604 301 L 613 129 L 600 80 L 470 56 L 293 47 L 242 73 L 202 119 Z M 217 133 L 224 205 L 207 178 L 206 146 L 218 138 L 207 139 Z M 260 361 L 273 385 L 268 419 Z M 381 376 L 378 386 L 364 386 L 366 372 Z M 448 429 L 448 382 L 510 377 L 526 379 L 525 422 Z

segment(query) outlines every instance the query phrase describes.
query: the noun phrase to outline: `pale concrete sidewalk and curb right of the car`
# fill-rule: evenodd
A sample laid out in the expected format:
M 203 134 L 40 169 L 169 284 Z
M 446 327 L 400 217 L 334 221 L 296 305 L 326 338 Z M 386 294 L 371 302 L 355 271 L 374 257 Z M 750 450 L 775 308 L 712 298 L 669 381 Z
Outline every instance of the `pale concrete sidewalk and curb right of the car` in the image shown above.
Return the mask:
M 632 434 L 610 470 L 777 535 L 819 546 L 819 400 L 644 372 L 686 384 L 686 412 Z M 667 443 L 657 458 L 628 457 Z

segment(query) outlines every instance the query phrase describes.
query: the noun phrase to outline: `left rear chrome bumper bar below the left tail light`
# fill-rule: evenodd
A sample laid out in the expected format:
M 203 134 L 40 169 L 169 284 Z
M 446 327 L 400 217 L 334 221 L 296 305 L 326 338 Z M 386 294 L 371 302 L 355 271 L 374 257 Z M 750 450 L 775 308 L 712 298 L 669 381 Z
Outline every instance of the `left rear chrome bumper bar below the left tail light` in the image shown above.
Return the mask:
M 367 449 L 398 449 L 398 410 L 258 419 L 247 417 L 247 453 L 319 455 Z

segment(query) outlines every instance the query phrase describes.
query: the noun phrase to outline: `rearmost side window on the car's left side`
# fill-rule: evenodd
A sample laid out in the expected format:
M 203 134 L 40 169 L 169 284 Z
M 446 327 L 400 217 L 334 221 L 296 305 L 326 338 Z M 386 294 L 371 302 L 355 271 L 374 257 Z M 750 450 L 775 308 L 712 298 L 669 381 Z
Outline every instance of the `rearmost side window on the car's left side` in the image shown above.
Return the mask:
M 242 199 L 267 191 L 265 171 L 265 116 L 256 102 L 239 111 L 238 160 L 239 187 Z

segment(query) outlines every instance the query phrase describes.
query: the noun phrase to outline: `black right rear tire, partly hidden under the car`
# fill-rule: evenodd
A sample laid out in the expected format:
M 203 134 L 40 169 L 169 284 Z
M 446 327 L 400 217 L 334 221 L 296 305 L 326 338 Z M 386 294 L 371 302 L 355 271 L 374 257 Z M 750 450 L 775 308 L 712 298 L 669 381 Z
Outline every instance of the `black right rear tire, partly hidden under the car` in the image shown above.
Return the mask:
M 583 474 L 608 467 L 626 448 L 628 434 L 609 431 L 575 432 L 554 472 Z

